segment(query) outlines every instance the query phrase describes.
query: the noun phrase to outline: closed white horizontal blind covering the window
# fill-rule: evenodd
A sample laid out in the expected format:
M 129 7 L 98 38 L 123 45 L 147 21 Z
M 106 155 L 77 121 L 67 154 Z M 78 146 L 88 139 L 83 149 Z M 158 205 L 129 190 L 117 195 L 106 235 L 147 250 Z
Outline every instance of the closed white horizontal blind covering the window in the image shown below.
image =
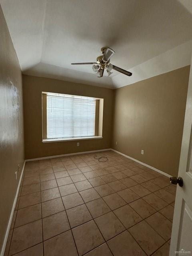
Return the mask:
M 47 138 L 94 136 L 95 106 L 90 97 L 47 95 Z

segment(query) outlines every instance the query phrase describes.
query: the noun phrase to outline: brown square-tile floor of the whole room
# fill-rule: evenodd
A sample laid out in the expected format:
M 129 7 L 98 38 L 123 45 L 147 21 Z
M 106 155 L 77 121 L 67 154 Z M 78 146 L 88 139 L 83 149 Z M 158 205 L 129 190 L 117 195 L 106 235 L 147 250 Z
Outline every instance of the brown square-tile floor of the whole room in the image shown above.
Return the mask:
M 112 151 L 26 162 L 4 255 L 168 256 L 175 192 Z

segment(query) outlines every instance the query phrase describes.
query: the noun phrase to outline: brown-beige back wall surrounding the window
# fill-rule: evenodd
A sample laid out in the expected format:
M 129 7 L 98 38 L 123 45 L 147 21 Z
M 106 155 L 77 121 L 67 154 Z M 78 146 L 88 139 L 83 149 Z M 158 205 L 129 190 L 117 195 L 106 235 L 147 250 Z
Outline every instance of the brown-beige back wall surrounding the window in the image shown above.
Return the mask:
M 42 143 L 42 92 L 104 98 L 103 138 Z M 114 90 L 62 80 L 23 75 L 25 158 L 110 148 Z

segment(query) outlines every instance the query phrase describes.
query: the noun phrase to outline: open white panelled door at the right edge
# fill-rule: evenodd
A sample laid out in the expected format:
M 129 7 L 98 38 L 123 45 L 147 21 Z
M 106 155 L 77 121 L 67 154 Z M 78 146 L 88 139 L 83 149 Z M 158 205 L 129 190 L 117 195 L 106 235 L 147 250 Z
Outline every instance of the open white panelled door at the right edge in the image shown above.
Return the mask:
M 177 184 L 170 256 L 192 256 L 192 62 L 188 85 L 184 130 Z

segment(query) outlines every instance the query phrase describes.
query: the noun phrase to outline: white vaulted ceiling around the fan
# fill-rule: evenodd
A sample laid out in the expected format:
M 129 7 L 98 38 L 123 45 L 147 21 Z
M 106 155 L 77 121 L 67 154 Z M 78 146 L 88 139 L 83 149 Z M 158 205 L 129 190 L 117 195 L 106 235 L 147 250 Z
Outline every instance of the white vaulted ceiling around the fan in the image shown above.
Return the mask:
M 190 0 L 0 0 L 24 74 L 116 88 L 190 64 Z M 188 8 L 189 6 L 189 8 Z M 100 48 L 133 72 L 97 78 Z

